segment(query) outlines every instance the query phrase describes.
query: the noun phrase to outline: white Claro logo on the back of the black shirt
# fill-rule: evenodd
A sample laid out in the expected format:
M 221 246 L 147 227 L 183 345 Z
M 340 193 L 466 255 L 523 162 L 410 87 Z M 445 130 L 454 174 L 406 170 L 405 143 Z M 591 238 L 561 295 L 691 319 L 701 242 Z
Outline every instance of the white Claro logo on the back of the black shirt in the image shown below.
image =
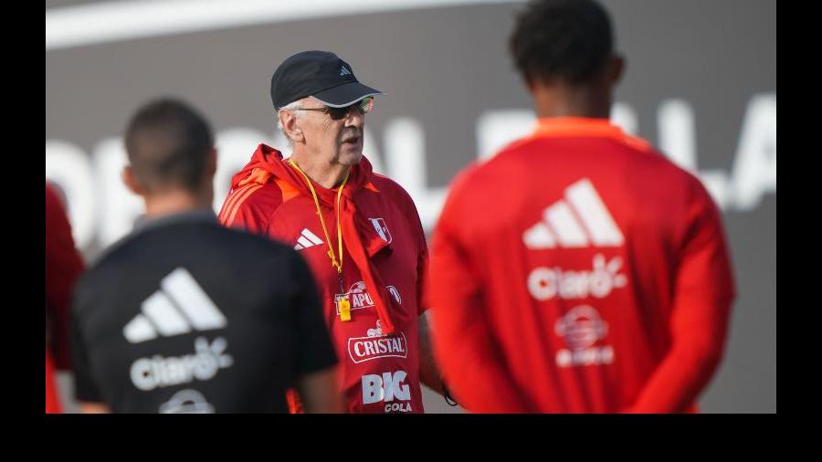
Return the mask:
M 148 392 L 158 387 L 190 383 L 194 379 L 211 380 L 220 369 L 234 363 L 231 356 L 225 354 L 227 347 L 228 343 L 222 337 L 216 338 L 210 345 L 204 337 L 197 337 L 195 354 L 141 358 L 132 363 L 132 383 Z

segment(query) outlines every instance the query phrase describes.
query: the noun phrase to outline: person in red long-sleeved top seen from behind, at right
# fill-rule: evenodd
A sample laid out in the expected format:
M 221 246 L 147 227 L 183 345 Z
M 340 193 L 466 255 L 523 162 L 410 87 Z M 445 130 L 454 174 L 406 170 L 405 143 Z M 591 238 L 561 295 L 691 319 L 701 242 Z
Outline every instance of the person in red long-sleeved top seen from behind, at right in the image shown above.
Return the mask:
M 532 2 L 511 54 L 537 126 L 458 175 L 432 241 L 451 391 L 473 412 L 695 411 L 734 298 L 717 207 L 608 121 L 623 60 L 600 5 Z

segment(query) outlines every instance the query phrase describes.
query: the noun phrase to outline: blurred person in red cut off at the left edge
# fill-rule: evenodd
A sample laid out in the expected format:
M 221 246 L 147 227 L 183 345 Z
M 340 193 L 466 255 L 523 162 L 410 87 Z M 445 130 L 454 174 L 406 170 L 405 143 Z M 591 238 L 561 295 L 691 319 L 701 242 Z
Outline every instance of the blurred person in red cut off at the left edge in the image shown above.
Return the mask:
M 71 369 L 68 312 L 85 264 L 58 192 L 46 184 L 46 413 L 60 413 L 56 372 Z

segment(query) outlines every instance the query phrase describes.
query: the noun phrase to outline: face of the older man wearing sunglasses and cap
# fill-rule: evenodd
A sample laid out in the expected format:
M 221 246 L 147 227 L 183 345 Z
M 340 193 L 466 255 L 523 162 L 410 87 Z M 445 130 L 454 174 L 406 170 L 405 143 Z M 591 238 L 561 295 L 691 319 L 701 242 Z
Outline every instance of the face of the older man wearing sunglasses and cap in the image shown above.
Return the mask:
M 300 108 L 324 109 L 325 105 L 313 98 L 300 100 Z M 328 163 L 354 165 L 363 158 L 363 131 L 365 114 L 349 110 L 338 121 L 321 110 L 302 110 L 297 121 L 305 136 L 305 147 Z

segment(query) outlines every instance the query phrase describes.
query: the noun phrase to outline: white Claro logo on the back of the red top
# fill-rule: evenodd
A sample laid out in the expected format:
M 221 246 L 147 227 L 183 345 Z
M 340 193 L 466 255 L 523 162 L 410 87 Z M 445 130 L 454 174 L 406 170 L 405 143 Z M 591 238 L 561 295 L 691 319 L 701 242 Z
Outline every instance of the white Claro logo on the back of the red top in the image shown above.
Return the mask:
M 528 291 L 540 301 L 553 299 L 603 299 L 614 289 L 627 285 L 627 277 L 619 274 L 622 258 L 613 257 L 606 262 L 602 254 L 594 256 L 594 268 L 590 271 L 565 271 L 562 268 L 534 268 L 528 275 Z

